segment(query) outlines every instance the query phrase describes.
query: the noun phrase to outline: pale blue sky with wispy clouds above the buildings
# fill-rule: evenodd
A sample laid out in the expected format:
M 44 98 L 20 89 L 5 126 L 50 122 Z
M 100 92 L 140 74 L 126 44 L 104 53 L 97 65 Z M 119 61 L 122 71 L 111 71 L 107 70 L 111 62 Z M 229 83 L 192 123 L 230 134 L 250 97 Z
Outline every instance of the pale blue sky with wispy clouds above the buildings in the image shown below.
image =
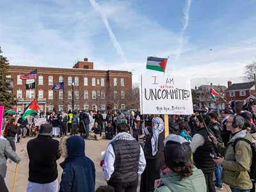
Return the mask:
M 1 0 L 0 46 L 11 65 L 129 70 L 148 56 L 191 86 L 242 82 L 256 61 L 255 0 Z

